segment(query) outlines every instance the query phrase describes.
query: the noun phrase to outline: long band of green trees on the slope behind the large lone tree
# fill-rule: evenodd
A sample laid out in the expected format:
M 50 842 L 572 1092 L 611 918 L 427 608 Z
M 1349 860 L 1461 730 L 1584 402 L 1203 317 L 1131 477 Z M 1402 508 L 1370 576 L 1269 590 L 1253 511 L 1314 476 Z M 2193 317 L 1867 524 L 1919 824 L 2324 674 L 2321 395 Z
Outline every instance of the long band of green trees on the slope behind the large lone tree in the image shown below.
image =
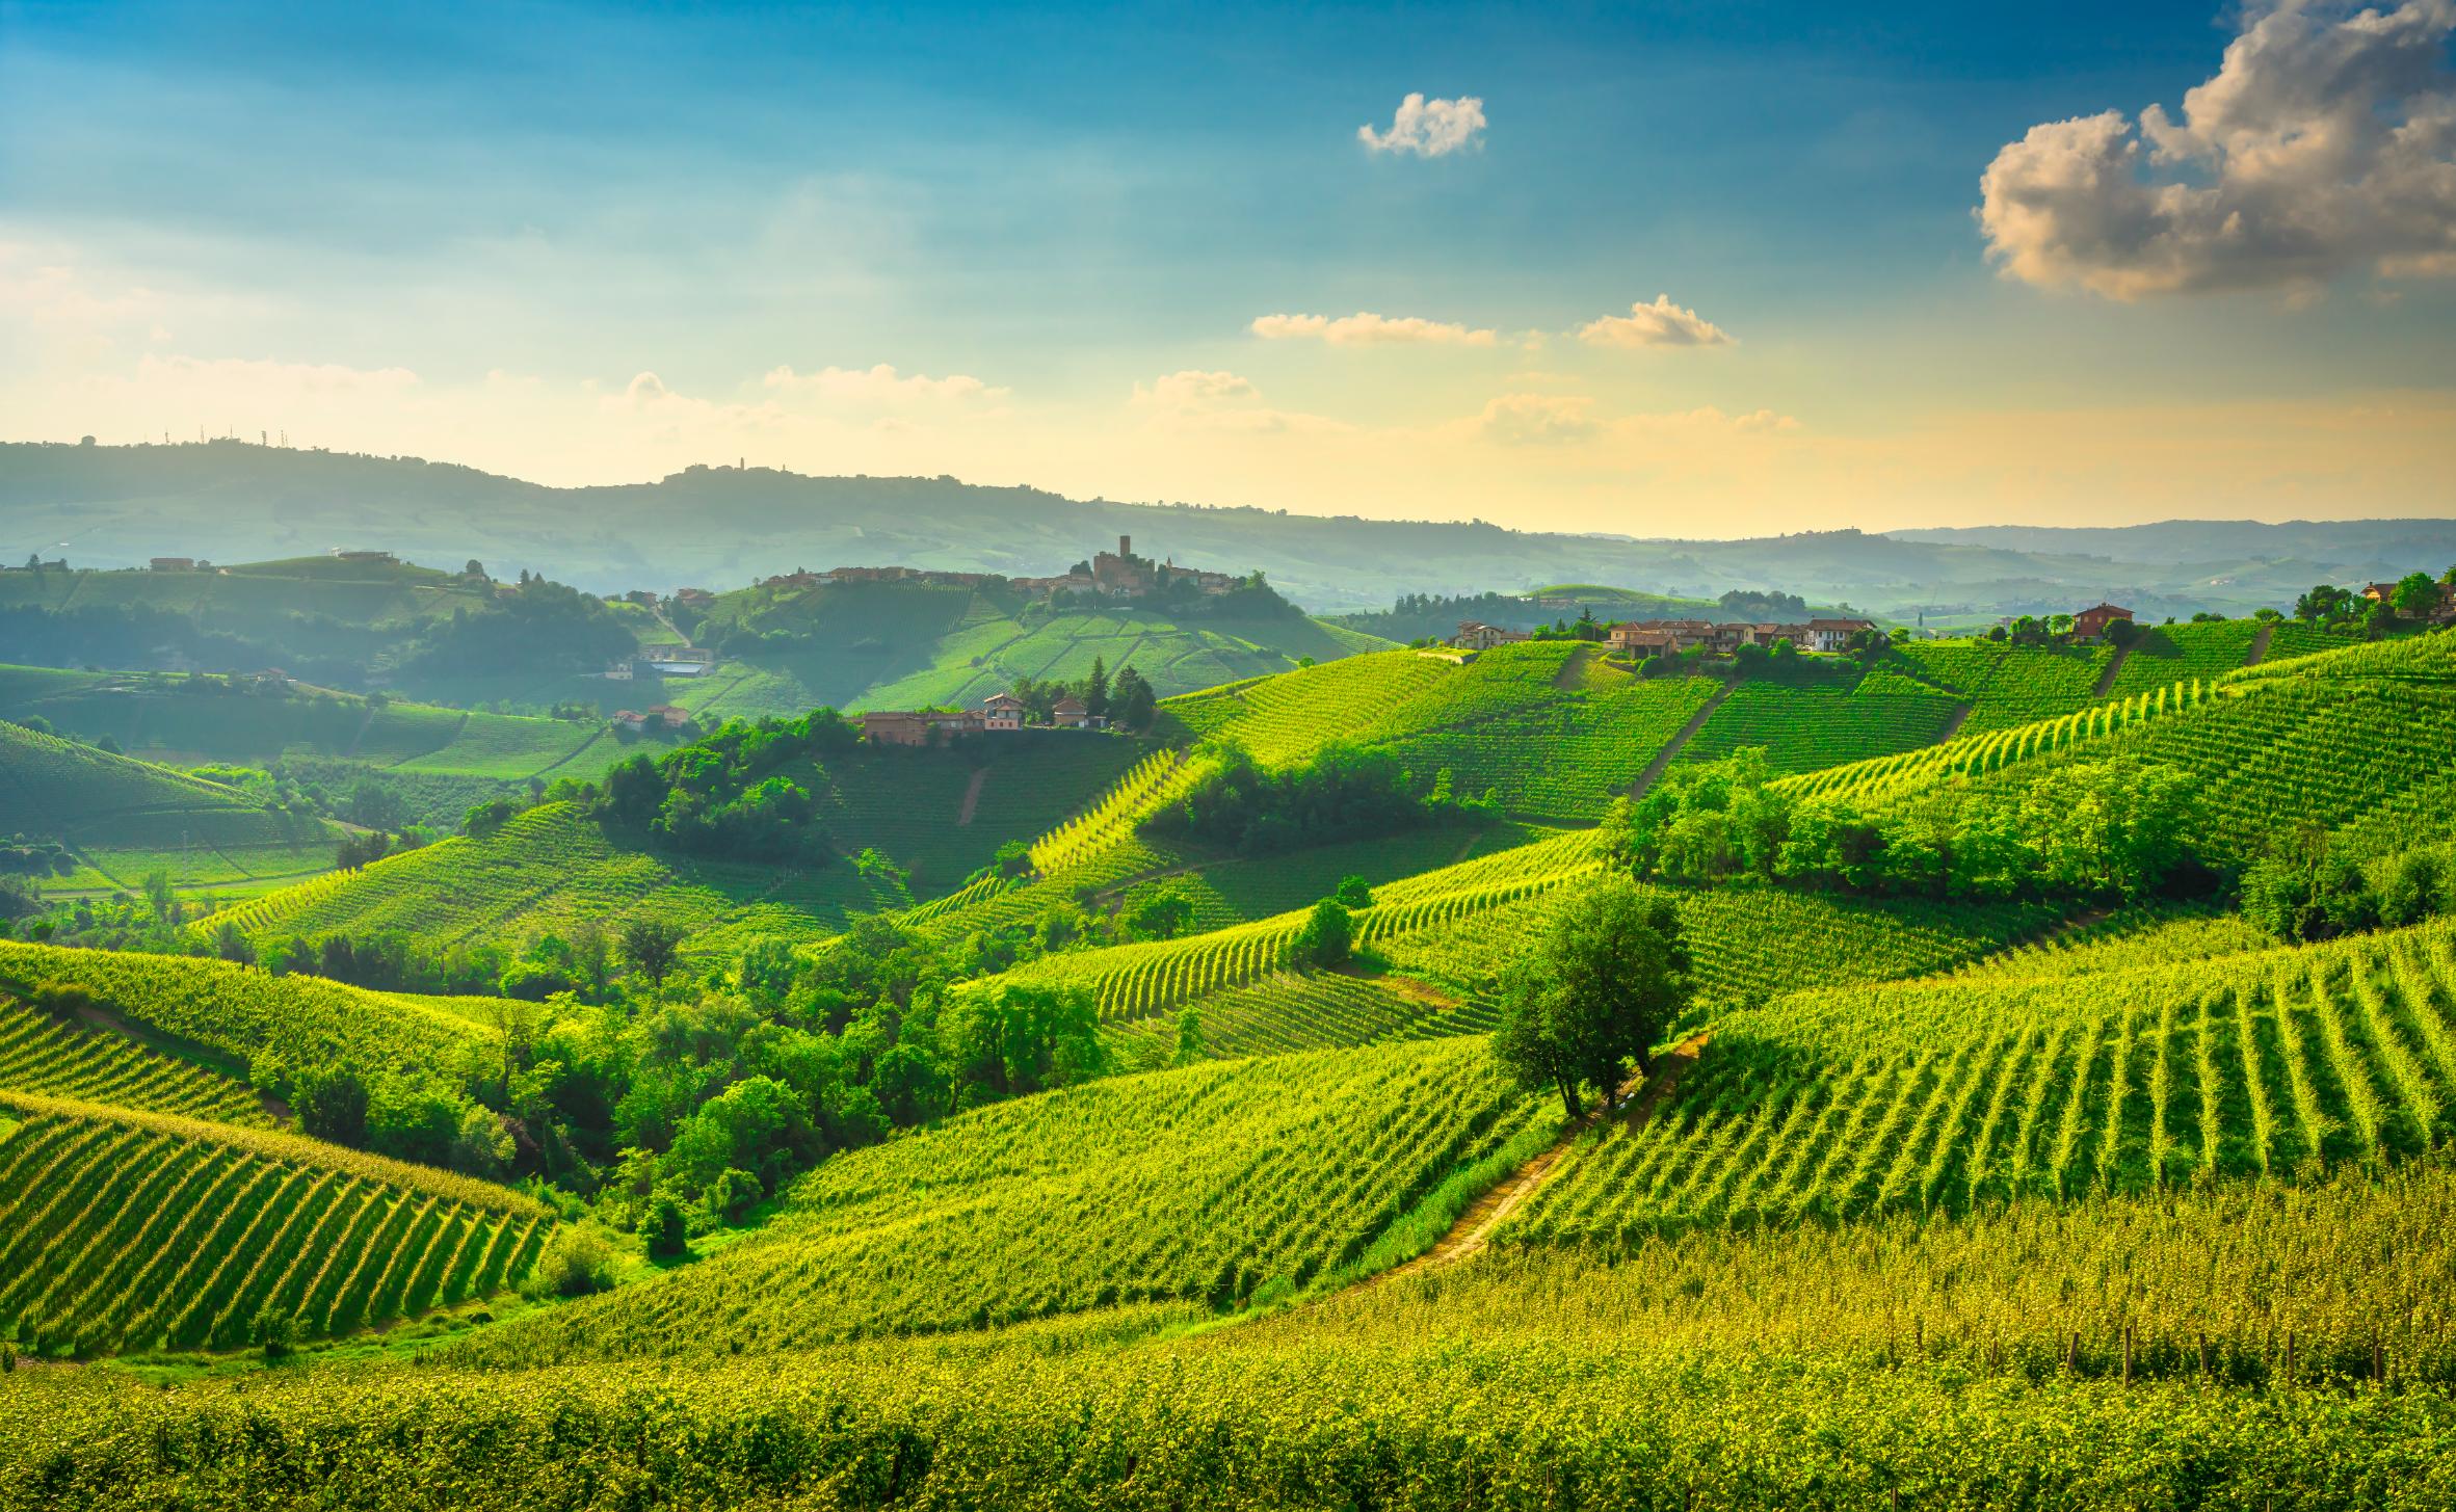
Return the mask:
M 1773 788 L 1754 749 L 1675 766 L 1604 820 L 1609 854 L 1636 876 L 1754 876 L 1938 898 L 2205 891 L 2213 876 L 2191 847 L 2196 830 L 2188 776 L 2124 756 L 1869 808 Z

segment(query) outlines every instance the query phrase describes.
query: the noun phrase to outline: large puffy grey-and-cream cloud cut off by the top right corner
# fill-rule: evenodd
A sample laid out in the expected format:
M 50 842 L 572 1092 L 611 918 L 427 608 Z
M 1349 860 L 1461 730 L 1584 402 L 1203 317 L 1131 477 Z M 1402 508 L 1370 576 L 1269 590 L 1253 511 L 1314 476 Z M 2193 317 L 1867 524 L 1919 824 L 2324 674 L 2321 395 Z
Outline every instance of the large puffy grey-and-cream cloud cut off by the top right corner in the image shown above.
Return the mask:
M 1987 255 L 2110 299 L 2456 275 L 2451 32 L 2456 0 L 2255 7 L 2181 120 L 2149 106 L 2134 133 L 2102 110 L 1999 150 Z

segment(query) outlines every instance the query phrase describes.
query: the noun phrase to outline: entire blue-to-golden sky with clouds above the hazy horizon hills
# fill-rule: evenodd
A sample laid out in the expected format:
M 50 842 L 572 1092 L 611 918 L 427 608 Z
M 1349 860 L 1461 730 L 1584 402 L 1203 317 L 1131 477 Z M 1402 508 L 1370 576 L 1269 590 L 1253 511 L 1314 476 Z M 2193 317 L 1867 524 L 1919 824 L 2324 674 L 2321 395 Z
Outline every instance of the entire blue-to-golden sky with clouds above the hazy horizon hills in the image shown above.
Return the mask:
M 2456 513 L 2456 0 L 1840 10 L 0 0 L 0 439 Z

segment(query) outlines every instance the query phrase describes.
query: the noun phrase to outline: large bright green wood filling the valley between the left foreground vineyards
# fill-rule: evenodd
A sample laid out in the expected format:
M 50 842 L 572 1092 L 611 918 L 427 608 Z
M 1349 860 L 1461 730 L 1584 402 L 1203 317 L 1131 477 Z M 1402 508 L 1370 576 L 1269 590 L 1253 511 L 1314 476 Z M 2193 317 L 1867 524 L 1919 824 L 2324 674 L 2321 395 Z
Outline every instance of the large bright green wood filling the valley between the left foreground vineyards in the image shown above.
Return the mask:
M 837 1149 L 1113 1070 L 1088 994 L 958 992 L 960 952 L 889 918 L 857 918 L 818 950 L 764 938 L 698 974 L 680 970 L 678 943 L 680 930 L 634 920 L 533 945 L 523 962 L 543 977 L 560 967 L 538 982 L 555 989 L 499 999 L 494 1033 L 452 1065 L 258 1068 L 258 1080 L 319 1139 L 538 1178 L 619 1227 L 666 1222 L 656 1210 L 670 1205 L 705 1230 Z M 381 955 L 346 940 L 302 952 L 336 979 Z

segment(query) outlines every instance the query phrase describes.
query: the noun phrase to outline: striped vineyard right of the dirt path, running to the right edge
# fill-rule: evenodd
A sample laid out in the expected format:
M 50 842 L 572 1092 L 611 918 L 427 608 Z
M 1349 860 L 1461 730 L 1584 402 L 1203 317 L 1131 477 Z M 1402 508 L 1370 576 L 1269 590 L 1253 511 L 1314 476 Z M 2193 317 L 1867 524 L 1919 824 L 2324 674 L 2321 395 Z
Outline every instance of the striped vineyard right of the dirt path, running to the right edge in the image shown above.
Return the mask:
M 2073 982 L 1734 1014 L 1643 1129 L 1577 1149 L 1528 1242 L 2289 1181 L 2449 1144 L 2456 923 Z

